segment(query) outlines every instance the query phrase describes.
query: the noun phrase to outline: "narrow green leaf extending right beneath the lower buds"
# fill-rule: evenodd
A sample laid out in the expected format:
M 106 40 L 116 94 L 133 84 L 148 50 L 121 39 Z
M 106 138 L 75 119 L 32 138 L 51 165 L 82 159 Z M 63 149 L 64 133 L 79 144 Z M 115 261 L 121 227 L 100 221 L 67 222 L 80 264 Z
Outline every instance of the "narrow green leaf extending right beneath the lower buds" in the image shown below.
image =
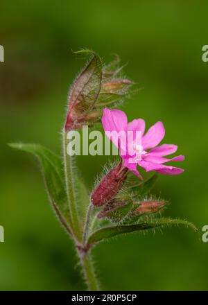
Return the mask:
M 154 220 L 154 222 L 152 222 L 152 223 L 139 223 L 137 225 L 119 225 L 119 226 L 112 226 L 112 227 L 105 227 L 103 229 L 98 229 L 91 236 L 89 236 L 87 244 L 93 245 L 94 243 L 99 243 L 108 238 L 111 238 L 111 237 L 114 237 L 117 235 L 121 235 L 121 234 L 127 234 L 127 233 L 137 232 L 137 231 L 144 231 L 147 229 L 157 229 L 159 227 L 160 228 L 171 227 L 174 225 L 187 225 L 187 227 L 191 227 L 192 229 L 197 231 L 196 227 L 192 223 L 189 223 L 189 221 L 187 221 L 187 220 L 160 218 L 160 219 Z

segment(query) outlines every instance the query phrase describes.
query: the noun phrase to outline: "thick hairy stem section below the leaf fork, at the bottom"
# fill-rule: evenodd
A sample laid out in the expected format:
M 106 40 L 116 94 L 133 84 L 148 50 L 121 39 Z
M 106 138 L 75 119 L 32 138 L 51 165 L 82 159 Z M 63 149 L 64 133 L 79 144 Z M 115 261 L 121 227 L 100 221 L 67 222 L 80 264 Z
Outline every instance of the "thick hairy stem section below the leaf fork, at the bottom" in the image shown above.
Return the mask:
M 80 260 L 82 263 L 83 273 L 85 275 L 88 290 L 98 291 L 98 280 L 96 279 L 91 257 L 89 256 L 89 254 L 86 254 L 85 256 L 81 257 Z

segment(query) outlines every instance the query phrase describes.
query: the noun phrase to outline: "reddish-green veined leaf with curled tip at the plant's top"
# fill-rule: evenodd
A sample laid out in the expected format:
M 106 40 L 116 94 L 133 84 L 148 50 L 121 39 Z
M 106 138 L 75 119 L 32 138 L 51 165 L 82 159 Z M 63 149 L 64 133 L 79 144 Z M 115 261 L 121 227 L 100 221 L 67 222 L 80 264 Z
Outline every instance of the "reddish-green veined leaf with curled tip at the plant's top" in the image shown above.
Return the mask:
M 71 110 L 83 115 L 92 110 L 101 90 L 102 62 L 96 53 L 82 50 L 76 53 L 92 53 L 92 59 L 73 83 L 69 95 L 69 112 Z

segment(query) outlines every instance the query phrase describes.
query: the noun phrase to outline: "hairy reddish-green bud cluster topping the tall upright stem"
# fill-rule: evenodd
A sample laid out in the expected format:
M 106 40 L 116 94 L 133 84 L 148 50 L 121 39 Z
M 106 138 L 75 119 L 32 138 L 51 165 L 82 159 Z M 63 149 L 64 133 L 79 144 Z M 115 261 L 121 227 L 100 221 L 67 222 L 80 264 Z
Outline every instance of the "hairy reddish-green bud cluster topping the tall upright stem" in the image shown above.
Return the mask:
M 92 125 L 100 120 L 103 108 L 121 103 L 132 85 L 130 80 L 116 77 L 122 69 L 116 67 L 118 60 L 103 66 L 96 53 L 89 53 L 92 53 L 92 59 L 70 90 L 65 132 L 82 128 L 82 125 Z

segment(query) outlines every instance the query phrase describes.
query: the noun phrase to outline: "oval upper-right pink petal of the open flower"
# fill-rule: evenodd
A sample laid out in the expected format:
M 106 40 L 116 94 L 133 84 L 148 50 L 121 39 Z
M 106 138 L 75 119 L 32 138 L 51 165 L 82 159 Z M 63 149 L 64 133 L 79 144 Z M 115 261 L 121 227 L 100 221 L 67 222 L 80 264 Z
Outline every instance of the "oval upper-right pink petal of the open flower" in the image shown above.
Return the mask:
M 144 149 L 149 149 L 157 146 L 164 138 L 165 129 L 162 122 L 157 122 L 150 127 L 148 132 L 142 137 L 142 146 Z

